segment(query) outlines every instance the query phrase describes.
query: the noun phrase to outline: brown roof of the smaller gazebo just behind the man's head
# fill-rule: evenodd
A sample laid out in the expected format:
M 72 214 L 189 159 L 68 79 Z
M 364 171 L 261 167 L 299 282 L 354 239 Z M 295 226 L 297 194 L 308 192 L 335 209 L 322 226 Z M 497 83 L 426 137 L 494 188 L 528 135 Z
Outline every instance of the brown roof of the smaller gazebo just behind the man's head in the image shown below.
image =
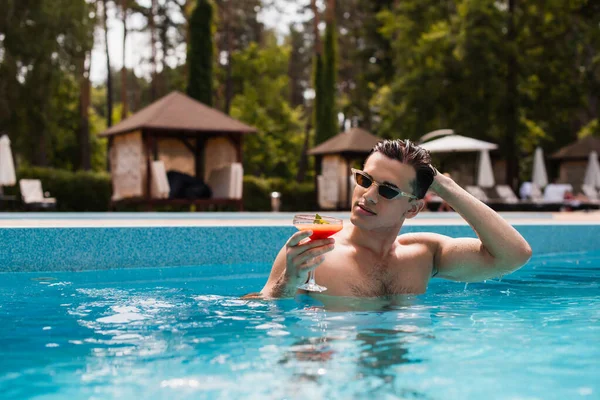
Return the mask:
M 371 149 L 382 140 L 382 138 L 377 137 L 364 129 L 351 128 L 309 150 L 308 154 L 313 156 L 344 153 L 366 155 L 369 154 Z

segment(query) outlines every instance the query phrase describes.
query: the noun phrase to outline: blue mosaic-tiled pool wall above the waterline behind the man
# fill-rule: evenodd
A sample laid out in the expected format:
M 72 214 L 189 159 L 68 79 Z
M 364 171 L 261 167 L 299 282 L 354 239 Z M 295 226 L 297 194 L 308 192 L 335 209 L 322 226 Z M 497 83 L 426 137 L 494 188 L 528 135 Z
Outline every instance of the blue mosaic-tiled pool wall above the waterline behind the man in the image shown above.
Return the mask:
M 600 225 L 515 225 L 535 254 L 600 249 Z M 475 237 L 466 225 L 406 226 L 402 233 Z M 270 263 L 293 227 L 0 229 L 0 272 Z

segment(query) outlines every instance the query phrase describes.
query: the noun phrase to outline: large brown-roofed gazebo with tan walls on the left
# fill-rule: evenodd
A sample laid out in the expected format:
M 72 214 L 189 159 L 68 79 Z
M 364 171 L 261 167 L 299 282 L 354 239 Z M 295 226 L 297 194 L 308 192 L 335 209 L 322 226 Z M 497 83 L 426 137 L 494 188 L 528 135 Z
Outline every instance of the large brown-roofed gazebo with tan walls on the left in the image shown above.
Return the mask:
M 208 107 L 180 92 L 155 101 L 136 114 L 102 132 L 108 138 L 113 184 L 111 206 L 134 203 L 155 205 L 232 205 L 242 209 L 242 139 L 256 129 Z M 160 168 L 156 168 L 155 163 Z M 210 183 L 219 172 L 219 182 L 229 180 L 237 167 L 236 185 L 230 189 L 211 187 L 211 198 L 165 198 L 165 171 L 177 171 Z M 162 171 L 162 174 L 161 174 Z M 226 174 L 227 176 L 225 176 Z M 224 178 L 224 179 L 221 179 Z M 238 182 L 239 181 L 239 182 Z M 164 186 L 164 184 L 163 184 Z

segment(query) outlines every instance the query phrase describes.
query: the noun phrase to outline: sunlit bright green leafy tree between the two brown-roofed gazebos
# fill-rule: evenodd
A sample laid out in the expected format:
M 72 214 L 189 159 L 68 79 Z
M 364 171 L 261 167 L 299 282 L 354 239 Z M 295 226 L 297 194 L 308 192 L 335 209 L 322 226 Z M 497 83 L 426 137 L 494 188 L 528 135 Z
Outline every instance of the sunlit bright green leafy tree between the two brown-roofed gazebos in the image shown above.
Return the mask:
M 231 116 L 258 129 L 244 136 L 244 171 L 255 176 L 294 179 L 303 144 L 303 112 L 289 104 L 289 48 L 274 37 L 263 47 L 251 43 L 236 52 L 233 78 L 241 89 Z

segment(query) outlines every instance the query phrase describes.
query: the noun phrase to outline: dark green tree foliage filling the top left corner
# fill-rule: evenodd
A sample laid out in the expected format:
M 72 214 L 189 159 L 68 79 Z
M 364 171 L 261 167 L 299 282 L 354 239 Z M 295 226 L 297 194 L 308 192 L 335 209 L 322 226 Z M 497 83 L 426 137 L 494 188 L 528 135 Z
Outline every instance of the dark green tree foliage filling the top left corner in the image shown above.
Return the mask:
M 94 5 L 6 0 L 0 8 L 0 130 L 24 163 L 69 167 L 69 136 L 79 126 L 77 65 L 92 46 Z

